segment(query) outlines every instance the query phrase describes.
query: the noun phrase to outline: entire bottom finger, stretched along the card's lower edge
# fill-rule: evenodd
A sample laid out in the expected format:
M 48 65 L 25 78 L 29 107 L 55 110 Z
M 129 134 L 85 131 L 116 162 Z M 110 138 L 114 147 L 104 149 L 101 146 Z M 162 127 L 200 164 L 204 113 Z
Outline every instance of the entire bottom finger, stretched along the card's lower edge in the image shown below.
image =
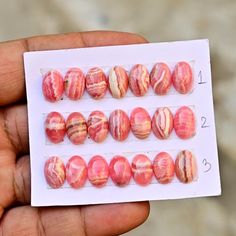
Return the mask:
M 86 207 L 13 208 L 0 225 L 3 235 L 119 235 L 143 223 L 149 204 L 123 203 Z M 13 230 L 14 229 L 14 232 Z

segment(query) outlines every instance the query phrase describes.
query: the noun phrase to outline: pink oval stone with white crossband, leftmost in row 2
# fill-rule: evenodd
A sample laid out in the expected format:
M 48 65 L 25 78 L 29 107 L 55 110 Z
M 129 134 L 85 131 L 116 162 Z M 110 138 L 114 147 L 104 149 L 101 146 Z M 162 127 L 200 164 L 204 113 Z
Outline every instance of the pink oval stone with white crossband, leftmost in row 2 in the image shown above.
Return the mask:
M 66 123 L 63 116 L 58 112 L 47 115 L 44 123 L 45 133 L 52 143 L 60 143 L 66 134 Z

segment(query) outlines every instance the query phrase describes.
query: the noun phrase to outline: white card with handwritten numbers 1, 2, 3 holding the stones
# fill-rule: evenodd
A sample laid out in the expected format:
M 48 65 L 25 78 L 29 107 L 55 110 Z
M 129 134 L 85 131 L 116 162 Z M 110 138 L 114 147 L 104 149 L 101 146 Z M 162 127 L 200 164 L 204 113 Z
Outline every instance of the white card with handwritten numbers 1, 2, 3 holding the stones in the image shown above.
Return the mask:
M 172 86 L 167 95 L 158 96 L 150 86 L 143 97 L 135 97 L 129 89 L 121 99 L 112 98 L 107 91 L 104 98 L 94 100 L 85 91 L 78 101 L 71 101 L 64 95 L 59 102 L 50 103 L 42 93 L 43 75 L 51 69 L 65 75 L 69 68 L 79 67 L 86 74 L 91 67 L 98 66 L 108 75 L 111 67 L 116 65 L 130 71 L 135 64 L 143 64 L 150 72 L 155 63 L 165 62 L 173 71 L 179 61 L 188 62 L 193 70 L 193 90 L 186 95 L 179 94 Z M 27 52 L 24 54 L 24 65 L 32 206 L 179 199 L 221 193 L 208 40 Z M 84 144 L 74 145 L 67 137 L 64 142 L 53 144 L 47 140 L 44 130 L 46 115 L 52 111 L 60 112 L 65 118 L 71 112 L 78 111 L 87 119 L 94 110 L 101 110 L 109 117 L 115 109 L 123 109 L 130 115 L 134 108 L 143 107 L 152 117 L 158 107 L 169 107 L 174 114 L 181 106 L 189 106 L 195 113 L 196 135 L 188 140 L 181 140 L 174 131 L 167 140 L 160 140 L 153 133 L 147 139 L 139 140 L 130 132 L 124 142 L 115 141 L 109 134 L 100 144 L 88 138 Z M 161 151 L 168 152 L 175 160 L 177 154 L 186 149 L 195 155 L 198 165 L 198 178 L 188 184 L 181 183 L 176 176 L 171 183 L 160 184 L 153 176 L 147 186 L 139 186 L 132 179 L 127 186 L 118 187 L 109 178 L 101 188 L 87 181 L 79 189 L 71 188 L 67 182 L 61 188 L 53 189 L 44 177 L 44 164 L 51 156 L 60 157 L 66 165 L 73 155 L 83 157 L 86 163 L 92 156 L 101 155 L 109 164 L 111 158 L 119 154 L 131 163 L 135 154 L 145 154 L 153 160 Z

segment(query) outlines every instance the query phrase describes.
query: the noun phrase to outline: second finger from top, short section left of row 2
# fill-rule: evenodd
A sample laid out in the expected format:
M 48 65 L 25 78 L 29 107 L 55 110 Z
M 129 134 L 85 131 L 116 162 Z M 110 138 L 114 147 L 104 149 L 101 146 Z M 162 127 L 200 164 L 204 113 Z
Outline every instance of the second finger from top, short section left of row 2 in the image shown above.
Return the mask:
M 18 155 L 29 153 L 26 105 L 2 109 L 0 115 L 0 148 L 10 148 Z

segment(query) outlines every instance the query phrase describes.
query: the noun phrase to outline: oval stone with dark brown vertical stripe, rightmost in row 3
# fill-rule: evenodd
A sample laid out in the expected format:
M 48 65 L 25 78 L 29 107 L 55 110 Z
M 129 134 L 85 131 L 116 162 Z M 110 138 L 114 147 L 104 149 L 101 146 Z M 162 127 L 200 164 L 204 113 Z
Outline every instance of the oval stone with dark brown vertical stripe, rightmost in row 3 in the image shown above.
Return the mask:
M 197 163 L 194 155 L 187 150 L 181 151 L 175 160 L 175 173 L 182 183 L 190 183 L 197 178 Z

